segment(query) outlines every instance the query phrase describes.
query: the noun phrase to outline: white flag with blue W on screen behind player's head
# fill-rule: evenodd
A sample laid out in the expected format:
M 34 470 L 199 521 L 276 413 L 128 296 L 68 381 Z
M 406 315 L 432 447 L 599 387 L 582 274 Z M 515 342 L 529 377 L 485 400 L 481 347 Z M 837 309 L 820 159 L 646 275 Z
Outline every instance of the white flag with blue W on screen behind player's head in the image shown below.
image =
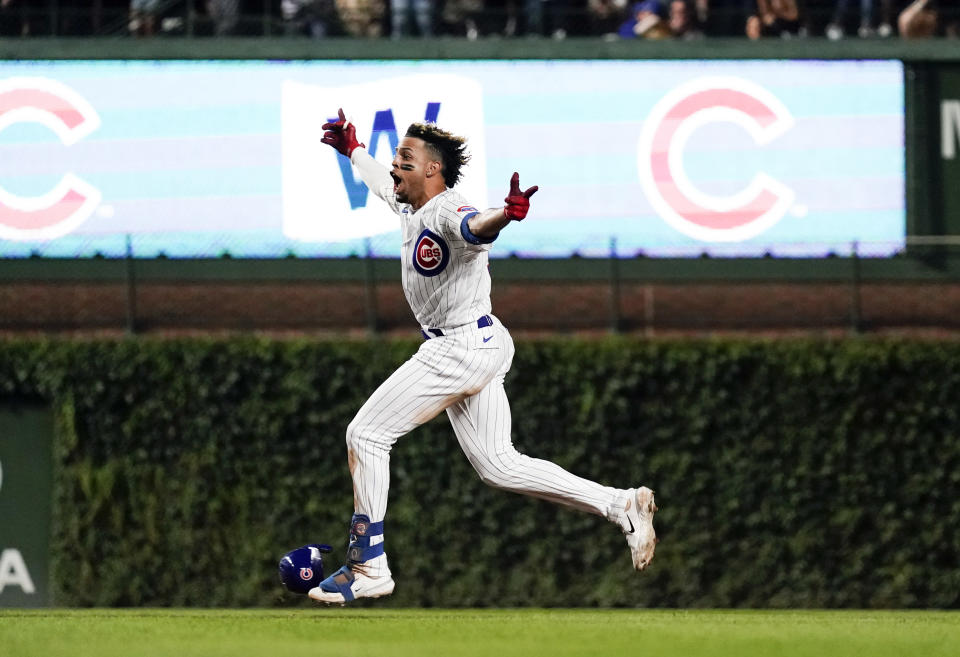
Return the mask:
M 466 136 L 472 158 L 458 190 L 473 205 L 486 205 L 483 93 L 476 80 L 416 74 L 342 87 L 286 81 L 281 132 L 288 238 L 345 242 L 399 229 L 398 218 L 367 189 L 349 160 L 320 141 L 321 126 L 340 107 L 356 126 L 357 139 L 388 168 L 415 121 L 436 122 Z

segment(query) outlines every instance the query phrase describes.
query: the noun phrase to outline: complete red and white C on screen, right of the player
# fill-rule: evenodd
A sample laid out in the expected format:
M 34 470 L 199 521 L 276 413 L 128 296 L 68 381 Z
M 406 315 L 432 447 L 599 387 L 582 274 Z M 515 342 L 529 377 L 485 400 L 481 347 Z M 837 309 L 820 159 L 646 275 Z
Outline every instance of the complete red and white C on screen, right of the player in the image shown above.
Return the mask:
M 693 80 L 664 96 L 644 121 L 640 182 L 657 214 L 681 233 L 709 242 L 739 242 L 780 221 L 794 192 L 762 172 L 733 196 L 698 190 L 683 169 L 683 150 L 697 128 L 717 121 L 741 126 L 758 145 L 793 127 L 786 106 L 759 85 L 732 77 Z

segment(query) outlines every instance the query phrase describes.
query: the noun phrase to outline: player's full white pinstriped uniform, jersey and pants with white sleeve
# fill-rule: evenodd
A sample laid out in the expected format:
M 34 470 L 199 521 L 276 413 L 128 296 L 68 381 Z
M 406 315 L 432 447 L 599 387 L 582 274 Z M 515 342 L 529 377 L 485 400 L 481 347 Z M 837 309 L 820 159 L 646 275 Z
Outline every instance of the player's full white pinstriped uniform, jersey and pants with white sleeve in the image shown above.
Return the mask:
M 354 149 L 351 161 L 367 187 L 400 215 L 403 289 L 417 321 L 424 329 L 460 327 L 442 335 L 424 331 L 417 353 L 374 391 L 347 427 L 354 512 L 371 522 L 384 518 L 391 448 L 446 411 L 457 441 L 486 483 L 603 515 L 625 529 L 621 518 L 626 517 L 627 491 L 583 479 L 513 447 L 503 384 L 514 345 L 490 312 L 490 244 L 477 239 L 466 224 L 477 210 L 447 189 L 413 212 L 397 201 L 387 169 L 363 148 Z M 487 321 L 477 322 L 484 315 L 490 315 Z M 386 553 L 365 561 L 363 568 L 371 578 L 390 574 Z

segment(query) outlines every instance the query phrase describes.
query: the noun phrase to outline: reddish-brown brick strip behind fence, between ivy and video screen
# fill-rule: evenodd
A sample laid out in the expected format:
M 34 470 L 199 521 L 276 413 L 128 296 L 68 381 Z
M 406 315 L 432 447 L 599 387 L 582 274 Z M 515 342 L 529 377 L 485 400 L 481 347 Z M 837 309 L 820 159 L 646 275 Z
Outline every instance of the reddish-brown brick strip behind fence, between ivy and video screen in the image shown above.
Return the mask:
M 958 283 L 606 283 L 497 282 L 494 312 L 518 332 L 960 330 Z M 398 282 L 141 283 L 138 332 L 378 331 L 410 335 L 416 323 Z M 618 308 L 617 311 L 614 309 Z M 118 283 L 0 282 L 0 331 L 117 331 L 128 322 Z

